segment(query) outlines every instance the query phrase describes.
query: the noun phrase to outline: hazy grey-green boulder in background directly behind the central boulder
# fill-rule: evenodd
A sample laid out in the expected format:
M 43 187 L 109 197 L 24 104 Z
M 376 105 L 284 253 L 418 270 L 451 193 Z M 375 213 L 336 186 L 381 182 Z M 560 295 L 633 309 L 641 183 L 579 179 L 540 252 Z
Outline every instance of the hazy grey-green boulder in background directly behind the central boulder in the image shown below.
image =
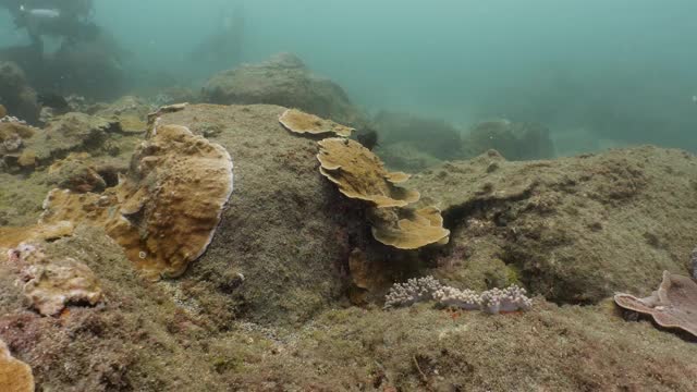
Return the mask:
M 345 125 L 363 124 L 359 111 L 341 86 L 317 76 L 291 53 L 215 75 L 204 86 L 203 99 L 219 105 L 279 105 Z

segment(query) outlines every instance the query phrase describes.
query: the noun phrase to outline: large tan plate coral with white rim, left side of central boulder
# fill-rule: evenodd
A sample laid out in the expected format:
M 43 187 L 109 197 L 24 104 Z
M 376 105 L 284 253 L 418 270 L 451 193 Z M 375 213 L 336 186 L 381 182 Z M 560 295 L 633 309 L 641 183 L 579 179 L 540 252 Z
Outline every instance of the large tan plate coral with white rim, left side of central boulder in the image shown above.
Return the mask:
M 158 126 L 118 186 L 101 195 L 53 189 L 41 221 L 103 226 L 145 274 L 175 277 L 205 252 L 232 188 L 223 147 L 183 126 Z

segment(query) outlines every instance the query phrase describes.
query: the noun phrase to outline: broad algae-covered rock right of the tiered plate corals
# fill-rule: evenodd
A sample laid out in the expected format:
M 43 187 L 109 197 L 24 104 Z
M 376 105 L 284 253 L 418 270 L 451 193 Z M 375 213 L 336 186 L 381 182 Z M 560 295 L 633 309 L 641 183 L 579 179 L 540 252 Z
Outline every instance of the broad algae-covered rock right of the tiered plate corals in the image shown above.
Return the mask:
M 694 156 L 641 147 L 533 162 L 491 151 L 411 183 L 452 231 L 450 253 L 435 260 L 439 278 L 467 280 L 469 260 L 503 260 L 533 293 L 596 303 L 650 286 L 663 270 L 686 273 L 695 179 Z

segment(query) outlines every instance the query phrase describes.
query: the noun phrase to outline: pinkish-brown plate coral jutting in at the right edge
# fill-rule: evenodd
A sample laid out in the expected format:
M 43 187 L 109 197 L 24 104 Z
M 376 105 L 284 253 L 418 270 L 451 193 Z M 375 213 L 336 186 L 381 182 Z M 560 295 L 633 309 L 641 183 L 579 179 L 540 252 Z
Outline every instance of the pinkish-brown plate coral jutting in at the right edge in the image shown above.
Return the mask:
M 650 296 L 637 298 L 619 293 L 614 302 L 624 309 L 650 315 L 661 327 L 697 336 L 697 282 L 690 278 L 663 271 L 660 286 Z

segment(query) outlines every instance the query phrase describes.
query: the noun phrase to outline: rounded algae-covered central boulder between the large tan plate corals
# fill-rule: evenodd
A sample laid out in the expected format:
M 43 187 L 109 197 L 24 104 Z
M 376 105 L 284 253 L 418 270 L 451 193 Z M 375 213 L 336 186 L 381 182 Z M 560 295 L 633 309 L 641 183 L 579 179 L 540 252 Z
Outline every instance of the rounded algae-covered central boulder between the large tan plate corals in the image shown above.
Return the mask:
M 284 111 L 197 105 L 159 122 L 206 135 L 235 162 L 235 191 L 217 234 L 182 278 L 192 292 L 207 293 L 211 311 L 294 321 L 341 294 L 352 218 L 339 212 L 345 201 L 319 173 L 317 143 L 279 123 Z

